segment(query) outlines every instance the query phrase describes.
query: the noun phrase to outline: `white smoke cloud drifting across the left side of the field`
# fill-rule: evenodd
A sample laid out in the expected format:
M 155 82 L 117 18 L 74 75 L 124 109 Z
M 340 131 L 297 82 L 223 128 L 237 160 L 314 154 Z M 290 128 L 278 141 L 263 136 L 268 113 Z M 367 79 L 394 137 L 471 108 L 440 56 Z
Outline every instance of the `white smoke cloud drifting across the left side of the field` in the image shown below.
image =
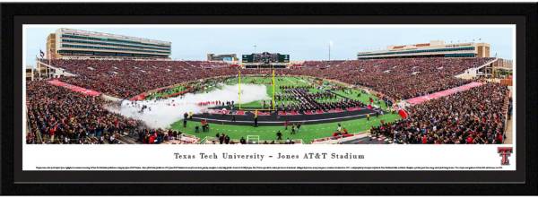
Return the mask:
M 241 83 L 241 103 L 252 102 L 261 99 L 270 99 L 267 95 L 265 85 L 259 84 L 242 84 Z M 161 99 L 161 100 L 129 100 L 122 102 L 121 107 L 108 110 L 119 113 L 122 116 L 131 117 L 142 120 L 146 125 L 152 128 L 168 128 L 171 124 L 183 119 L 183 114 L 193 112 L 199 114 L 207 110 L 207 108 L 215 107 L 215 105 L 198 106 L 199 102 L 221 100 L 239 101 L 239 85 L 222 85 L 217 90 L 212 90 L 207 93 L 187 93 L 183 97 Z M 140 113 L 143 105 L 148 108 Z M 151 110 L 150 110 L 151 109 Z

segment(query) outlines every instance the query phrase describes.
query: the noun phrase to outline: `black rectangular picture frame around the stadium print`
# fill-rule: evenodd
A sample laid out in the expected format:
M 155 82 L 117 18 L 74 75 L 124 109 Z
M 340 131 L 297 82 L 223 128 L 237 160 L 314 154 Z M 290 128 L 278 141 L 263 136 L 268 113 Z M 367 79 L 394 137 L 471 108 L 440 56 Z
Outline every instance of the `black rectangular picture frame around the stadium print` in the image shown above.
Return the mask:
M 2 6 L 2 188 L 0 194 L 259 194 L 259 195 L 332 195 L 332 194 L 537 194 L 536 184 L 536 90 L 533 88 L 536 76 L 536 24 L 537 4 L 1 4 Z M 176 18 L 174 18 L 176 17 Z M 181 19 L 181 20 L 178 20 Z M 312 20 L 312 19 L 315 20 Z M 295 21 L 294 21 L 295 20 Z M 301 21 L 302 20 L 302 21 Z M 310 20 L 310 21 L 308 21 Z M 437 20 L 437 21 L 436 21 Z M 245 171 L 211 172 L 222 181 L 204 182 L 196 174 L 182 172 L 183 176 L 193 178 L 188 182 L 166 182 L 178 171 L 165 172 L 169 176 L 144 180 L 153 172 L 124 171 L 111 174 L 98 172 L 30 172 L 22 171 L 21 135 L 17 129 L 17 117 L 22 112 L 22 43 L 17 36 L 24 22 L 50 23 L 214 23 L 229 22 L 250 24 L 265 22 L 291 23 L 313 22 L 335 24 L 354 22 L 363 24 L 431 24 L 451 22 L 453 24 L 497 24 L 515 22 L 518 72 L 517 76 L 517 125 L 516 133 L 525 133 L 520 142 L 518 135 L 517 173 L 524 180 L 494 181 L 506 178 L 513 173 L 494 171 L 457 171 L 421 172 L 386 171 L 361 172 L 356 176 L 372 178 L 369 182 L 345 182 L 347 172 L 306 171 L 282 172 L 282 174 L 246 173 Z M 521 42 L 524 39 L 525 42 Z M 17 83 L 19 82 L 19 83 Z M 18 99 L 18 100 L 17 100 Z M 521 100 L 520 100 L 521 99 Z M 526 107 L 525 107 L 526 105 Z M 523 117 L 523 118 L 522 118 Z M 19 121 L 20 122 L 20 121 Z M 524 126 L 524 127 L 521 127 Z M 21 125 L 18 126 L 21 128 Z M 56 176 L 77 176 L 78 181 L 54 181 Z M 523 174 L 523 175 L 521 175 Z M 352 174 L 351 174 L 352 175 Z M 21 182 L 18 176 L 32 176 L 33 181 Z M 99 177 L 101 181 L 88 179 Z M 191 177 L 192 176 L 192 177 Z M 240 181 L 241 176 L 264 178 L 263 176 L 283 178 L 281 182 Z M 304 178 L 295 181 L 294 178 Z M 381 176 L 382 179 L 377 178 Z M 393 176 L 388 181 L 387 176 Z M 342 178 L 342 182 L 328 181 L 326 178 Z M 416 179 L 408 181 L 405 178 Z M 442 177 L 444 180 L 436 180 Z M 116 182 L 109 182 L 118 179 Z M 317 182 L 308 182 L 310 179 Z M 325 180 L 324 180 L 325 179 Z M 493 182 L 488 182 L 488 179 Z M 107 182 L 108 181 L 108 182 Z

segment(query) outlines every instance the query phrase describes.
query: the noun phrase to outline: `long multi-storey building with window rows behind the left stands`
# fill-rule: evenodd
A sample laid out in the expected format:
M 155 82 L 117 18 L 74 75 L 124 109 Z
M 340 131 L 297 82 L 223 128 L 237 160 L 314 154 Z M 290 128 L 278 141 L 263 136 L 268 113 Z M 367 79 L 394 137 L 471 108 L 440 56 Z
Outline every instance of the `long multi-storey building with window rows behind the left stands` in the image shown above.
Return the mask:
M 47 52 L 51 59 L 169 59 L 171 42 L 62 28 L 48 35 Z

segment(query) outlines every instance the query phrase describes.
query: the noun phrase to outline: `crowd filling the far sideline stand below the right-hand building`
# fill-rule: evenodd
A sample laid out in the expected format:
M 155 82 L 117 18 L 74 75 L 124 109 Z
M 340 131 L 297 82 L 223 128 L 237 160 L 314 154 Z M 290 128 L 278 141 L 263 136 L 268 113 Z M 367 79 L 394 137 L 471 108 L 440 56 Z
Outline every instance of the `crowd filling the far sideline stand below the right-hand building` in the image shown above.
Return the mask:
M 392 99 L 411 99 L 447 90 L 469 81 L 455 75 L 484 65 L 493 58 L 395 58 L 325 63 L 324 66 L 290 70 L 292 74 L 316 76 L 369 87 Z M 306 62 L 305 62 L 306 63 Z M 329 67 L 330 65 L 330 67 Z

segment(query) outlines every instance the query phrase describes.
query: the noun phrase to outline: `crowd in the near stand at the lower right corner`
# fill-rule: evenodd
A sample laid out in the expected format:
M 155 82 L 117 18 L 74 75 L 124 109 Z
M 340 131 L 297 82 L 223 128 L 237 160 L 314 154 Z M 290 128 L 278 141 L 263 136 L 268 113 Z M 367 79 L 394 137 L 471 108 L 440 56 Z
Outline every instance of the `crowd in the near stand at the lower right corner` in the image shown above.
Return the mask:
M 409 108 L 409 117 L 372 127 L 396 143 L 491 144 L 504 140 L 508 88 L 486 83 Z

